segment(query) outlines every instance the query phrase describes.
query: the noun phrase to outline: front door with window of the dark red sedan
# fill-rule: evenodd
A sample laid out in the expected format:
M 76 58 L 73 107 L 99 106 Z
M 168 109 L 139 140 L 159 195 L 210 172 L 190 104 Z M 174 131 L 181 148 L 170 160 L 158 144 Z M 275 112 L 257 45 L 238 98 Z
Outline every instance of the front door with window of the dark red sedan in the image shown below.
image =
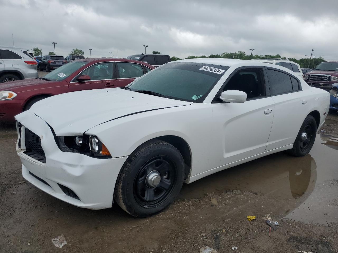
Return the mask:
M 77 81 L 77 78 L 88 75 L 88 81 Z M 69 92 L 103 88 L 116 88 L 117 80 L 114 75 L 114 62 L 100 62 L 84 69 L 69 83 Z

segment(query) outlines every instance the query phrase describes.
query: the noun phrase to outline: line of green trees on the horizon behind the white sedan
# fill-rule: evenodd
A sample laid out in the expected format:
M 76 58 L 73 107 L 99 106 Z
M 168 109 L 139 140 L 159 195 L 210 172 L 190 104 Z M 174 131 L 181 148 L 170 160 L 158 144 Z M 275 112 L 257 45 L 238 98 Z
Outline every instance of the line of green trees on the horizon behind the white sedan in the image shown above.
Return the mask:
M 228 59 L 240 59 L 240 60 L 251 60 L 251 59 L 257 59 L 257 58 L 262 58 L 262 57 L 269 57 L 269 58 L 282 58 L 282 59 L 287 59 L 286 57 L 282 57 L 280 54 L 276 55 L 247 55 L 245 54 L 244 51 L 238 51 L 236 53 L 223 53 L 223 54 L 211 54 L 209 56 L 206 55 L 201 55 L 201 56 L 188 56 L 187 58 L 184 59 L 194 59 L 194 58 L 228 58 Z M 177 61 L 181 60 L 178 57 L 172 56 L 171 57 L 172 61 Z M 318 57 L 318 58 L 301 58 L 301 59 L 295 59 L 295 58 L 289 58 L 290 61 L 296 62 L 300 65 L 300 67 L 310 67 L 314 68 L 316 67 L 319 63 L 325 61 L 323 57 Z

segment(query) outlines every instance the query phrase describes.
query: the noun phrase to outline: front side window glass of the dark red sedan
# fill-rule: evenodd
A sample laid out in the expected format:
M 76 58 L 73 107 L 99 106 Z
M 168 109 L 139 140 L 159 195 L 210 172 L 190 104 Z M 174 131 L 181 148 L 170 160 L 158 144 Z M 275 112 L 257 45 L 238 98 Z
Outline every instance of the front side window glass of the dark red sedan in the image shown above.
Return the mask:
M 113 79 L 113 62 L 97 63 L 82 71 L 76 78 L 88 75 L 90 80 Z

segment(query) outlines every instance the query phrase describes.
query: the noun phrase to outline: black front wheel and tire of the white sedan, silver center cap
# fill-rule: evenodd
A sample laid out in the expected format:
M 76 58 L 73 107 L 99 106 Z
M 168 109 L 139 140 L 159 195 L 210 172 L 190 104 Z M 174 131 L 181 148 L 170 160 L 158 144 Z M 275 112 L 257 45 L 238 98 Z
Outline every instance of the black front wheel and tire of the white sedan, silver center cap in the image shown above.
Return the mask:
M 182 154 L 165 141 L 149 141 L 124 164 L 117 180 L 116 202 L 132 216 L 151 216 L 174 202 L 183 180 Z

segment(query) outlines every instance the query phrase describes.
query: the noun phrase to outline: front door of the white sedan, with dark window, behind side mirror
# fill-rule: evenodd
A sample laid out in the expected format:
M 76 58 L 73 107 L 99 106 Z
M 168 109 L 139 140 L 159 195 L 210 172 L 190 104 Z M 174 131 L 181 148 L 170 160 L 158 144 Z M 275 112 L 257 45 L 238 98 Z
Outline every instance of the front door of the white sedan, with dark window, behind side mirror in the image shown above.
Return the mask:
M 247 93 L 244 103 L 213 104 L 211 168 L 217 168 L 263 153 L 271 131 L 274 102 L 267 94 L 262 67 L 241 69 L 224 90 Z

